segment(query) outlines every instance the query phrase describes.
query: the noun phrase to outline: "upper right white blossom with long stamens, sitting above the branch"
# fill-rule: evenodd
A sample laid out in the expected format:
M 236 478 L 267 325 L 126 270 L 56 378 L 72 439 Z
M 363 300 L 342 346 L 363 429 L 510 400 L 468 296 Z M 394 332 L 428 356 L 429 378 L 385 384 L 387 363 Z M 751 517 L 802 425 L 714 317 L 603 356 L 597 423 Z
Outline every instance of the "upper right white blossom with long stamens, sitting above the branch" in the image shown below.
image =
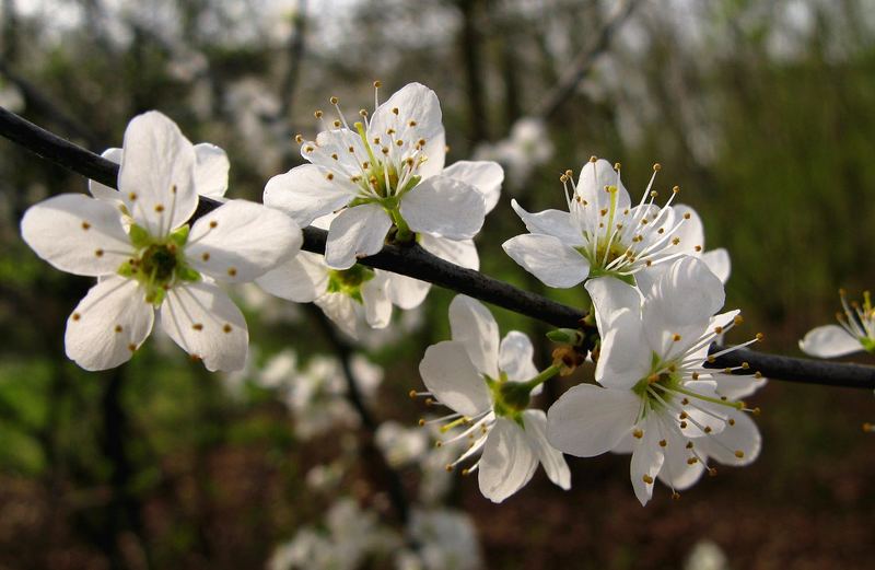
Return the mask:
M 638 281 L 645 277 L 645 269 L 684 255 L 705 256 L 713 272 L 725 281 L 728 255 L 723 249 L 704 254 L 699 217 L 687 206 L 670 206 L 677 187 L 665 206 L 654 203 L 656 193 L 651 188 L 658 170 L 654 165 L 638 206 L 631 205 L 620 182 L 619 165 L 593 158 L 581 170 L 578 184 L 568 171 L 561 179 L 569 211 L 530 213 L 513 200 L 530 233 L 508 240 L 504 251 L 544 283 L 558 288 L 600 276 L 634 276 Z

